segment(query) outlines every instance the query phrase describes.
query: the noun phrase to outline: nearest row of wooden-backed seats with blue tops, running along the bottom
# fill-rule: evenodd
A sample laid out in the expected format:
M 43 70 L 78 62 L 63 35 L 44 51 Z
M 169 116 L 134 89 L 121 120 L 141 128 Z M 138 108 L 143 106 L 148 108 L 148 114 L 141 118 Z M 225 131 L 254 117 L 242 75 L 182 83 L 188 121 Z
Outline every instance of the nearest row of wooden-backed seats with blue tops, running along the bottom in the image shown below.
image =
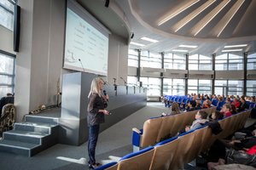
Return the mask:
M 108 163 L 97 170 L 183 169 L 184 164 L 207 150 L 215 139 L 224 138 L 243 127 L 249 115 L 250 110 L 247 110 L 219 121 L 224 130 L 218 135 L 204 126 L 123 156 L 118 162 Z

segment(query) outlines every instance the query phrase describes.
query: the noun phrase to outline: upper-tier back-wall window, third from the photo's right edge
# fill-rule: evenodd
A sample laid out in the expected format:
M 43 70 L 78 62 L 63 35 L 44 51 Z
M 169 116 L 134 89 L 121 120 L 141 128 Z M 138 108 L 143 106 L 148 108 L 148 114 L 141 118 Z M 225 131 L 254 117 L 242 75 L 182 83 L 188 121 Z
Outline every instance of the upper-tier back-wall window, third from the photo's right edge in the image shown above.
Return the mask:
M 189 70 L 210 71 L 212 70 L 212 57 L 194 54 L 189 56 Z

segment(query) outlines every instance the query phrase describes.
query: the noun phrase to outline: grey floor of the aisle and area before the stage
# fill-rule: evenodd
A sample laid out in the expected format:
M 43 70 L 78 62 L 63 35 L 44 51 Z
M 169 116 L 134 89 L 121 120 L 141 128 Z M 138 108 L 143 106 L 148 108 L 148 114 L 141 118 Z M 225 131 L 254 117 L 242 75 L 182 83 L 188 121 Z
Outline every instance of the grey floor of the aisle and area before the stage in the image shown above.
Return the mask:
M 131 153 L 131 128 L 143 127 L 143 122 L 151 116 L 160 116 L 162 112 L 170 112 L 161 103 L 150 102 L 143 109 L 126 117 L 121 122 L 100 133 L 96 147 L 96 160 L 103 164 L 117 161 L 120 157 Z M 111 115 L 114 116 L 114 115 Z M 36 156 L 24 157 L 0 152 L 1 170 L 73 170 L 88 169 L 87 167 L 87 142 L 80 146 L 55 144 L 48 150 Z

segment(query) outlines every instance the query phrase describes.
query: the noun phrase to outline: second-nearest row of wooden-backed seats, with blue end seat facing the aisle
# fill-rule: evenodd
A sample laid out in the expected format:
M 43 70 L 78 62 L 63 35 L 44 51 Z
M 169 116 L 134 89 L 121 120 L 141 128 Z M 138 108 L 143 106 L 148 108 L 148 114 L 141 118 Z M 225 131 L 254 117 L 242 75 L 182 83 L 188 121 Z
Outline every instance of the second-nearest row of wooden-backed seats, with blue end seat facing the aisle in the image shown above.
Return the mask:
M 203 109 L 208 114 L 216 111 L 216 107 Z M 149 118 L 143 124 L 143 129 L 134 127 L 132 134 L 133 150 L 147 147 L 160 142 L 161 139 L 170 138 L 180 132 L 186 125 L 195 120 L 197 111 L 183 112 L 177 115 L 158 116 Z

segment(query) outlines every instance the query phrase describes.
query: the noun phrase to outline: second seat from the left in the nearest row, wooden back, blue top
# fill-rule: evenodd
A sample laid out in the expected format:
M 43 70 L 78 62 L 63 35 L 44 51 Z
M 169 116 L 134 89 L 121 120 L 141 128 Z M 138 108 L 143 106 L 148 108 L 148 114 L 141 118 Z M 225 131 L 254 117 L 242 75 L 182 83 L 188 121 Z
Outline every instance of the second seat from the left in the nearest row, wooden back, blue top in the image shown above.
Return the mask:
M 148 170 L 154 155 L 154 147 L 149 146 L 143 150 L 123 156 L 119 160 L 118 170 Z

